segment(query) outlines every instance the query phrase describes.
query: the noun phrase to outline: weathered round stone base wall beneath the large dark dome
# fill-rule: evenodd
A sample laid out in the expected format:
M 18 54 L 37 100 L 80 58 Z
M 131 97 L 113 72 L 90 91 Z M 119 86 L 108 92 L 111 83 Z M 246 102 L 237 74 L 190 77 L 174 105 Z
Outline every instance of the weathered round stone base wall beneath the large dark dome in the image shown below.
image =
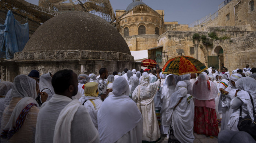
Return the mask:
M 86 50 L 18 52 L 14 59 L 0 61 L 3 81 L 13 81 L 18 74 L 28 75 L 33 69 L 40 74 L 62 69 L 72 69 L 76 74 L 98 74 L 101 67 L 106 67 L 112 74 L 125 68 L 140 70 L 140 64 L 133 62 L 133 56 L 129 54 Z

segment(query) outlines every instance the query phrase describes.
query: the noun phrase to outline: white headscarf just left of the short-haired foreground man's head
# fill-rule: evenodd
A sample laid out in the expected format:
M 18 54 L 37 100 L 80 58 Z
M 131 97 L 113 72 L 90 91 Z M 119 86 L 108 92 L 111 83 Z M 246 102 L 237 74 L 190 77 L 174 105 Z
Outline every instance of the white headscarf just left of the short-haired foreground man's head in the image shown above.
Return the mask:
M 50 76 L 50 73 L 42 74 L 40 77 L 39 89 L 40 91 L 49 89 L 52 94 L 55 94 L 52 87 L 52 77 Z

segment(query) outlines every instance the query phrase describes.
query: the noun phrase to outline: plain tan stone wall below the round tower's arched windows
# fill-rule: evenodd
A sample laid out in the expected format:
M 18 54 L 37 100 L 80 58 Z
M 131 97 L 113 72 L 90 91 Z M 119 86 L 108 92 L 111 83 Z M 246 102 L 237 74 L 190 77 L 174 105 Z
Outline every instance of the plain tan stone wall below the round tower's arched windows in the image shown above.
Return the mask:
M 124 40 L 129 46 L 130 51 L 140 51 L 157 47 L 158 36 L 159 35 L 133 35 L 124 37 Z

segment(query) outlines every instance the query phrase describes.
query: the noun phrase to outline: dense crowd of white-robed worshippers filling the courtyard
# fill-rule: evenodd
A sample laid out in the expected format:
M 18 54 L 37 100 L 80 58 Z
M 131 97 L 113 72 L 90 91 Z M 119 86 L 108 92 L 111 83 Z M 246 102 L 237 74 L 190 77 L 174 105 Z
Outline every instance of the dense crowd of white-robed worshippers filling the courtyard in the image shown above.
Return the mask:
M 256 69 L 221 70 L 177 76 L 124 69 L 109 75 L 101 68 L 98 76 L 60 70 L 40 77 L 32 70 L 13 83 L 0 82 L 0 141 L 140 143 L 162 137 L 193 143 L 193 132 L 212 138 L 221 125 L 218 140 L 225 142 L 238 131 L 240 106 L 242 117 L 253 119 L 249 94 L 256 107 Z

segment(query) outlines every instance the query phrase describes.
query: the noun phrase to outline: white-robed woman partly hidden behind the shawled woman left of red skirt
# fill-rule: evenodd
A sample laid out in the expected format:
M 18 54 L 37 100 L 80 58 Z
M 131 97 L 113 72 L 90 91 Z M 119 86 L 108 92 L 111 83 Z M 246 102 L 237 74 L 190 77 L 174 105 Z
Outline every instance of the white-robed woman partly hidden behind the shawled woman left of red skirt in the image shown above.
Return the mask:
M 162 103 L 162 108 L 161 108 L 161 134 L 166 134 L 167 138 L 169 138 L 168 136 L 168 132 L 169 132 L 169 127 L 170 124 L 167 123 L 167 117 L 166 117 L 166 110 L 169 108 L 169 102 L 171 99 L 171 95 L 175 92 L 175 80 L 173 75 L 169 74 L 166 77 L 166 85 L 163 86 L 162 89 L 162 95 L 161 95 L 161 103 Z

